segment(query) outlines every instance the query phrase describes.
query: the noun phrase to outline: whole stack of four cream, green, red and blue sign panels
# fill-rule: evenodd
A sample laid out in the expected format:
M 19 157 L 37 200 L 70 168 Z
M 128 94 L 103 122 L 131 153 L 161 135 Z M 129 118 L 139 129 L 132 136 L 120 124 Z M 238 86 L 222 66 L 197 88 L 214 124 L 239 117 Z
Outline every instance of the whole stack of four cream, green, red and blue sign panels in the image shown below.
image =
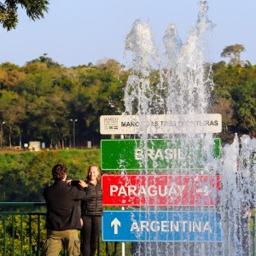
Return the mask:
M 102 116 L 102 135 L 218 133 L 218 113 Z M 102 170 L 203 170 L 208 151 L 220 156 L 220 140 L 203 139 L 102 140 Z M 195 158 L 196 156 L 196 158 Z M 211 166 L 207 166 L 211 167 Z M 102 240 L 122 241 L 221 241 L 218 205 L 219 175 L 103 175 L 104 211 Z M 167 207 L 168 206 L 168 207 Z M 167 211 L 124 211 L 124 207 L 166 207 Z M 169 207 L 207 207 L 206 211 L 169 211 Z

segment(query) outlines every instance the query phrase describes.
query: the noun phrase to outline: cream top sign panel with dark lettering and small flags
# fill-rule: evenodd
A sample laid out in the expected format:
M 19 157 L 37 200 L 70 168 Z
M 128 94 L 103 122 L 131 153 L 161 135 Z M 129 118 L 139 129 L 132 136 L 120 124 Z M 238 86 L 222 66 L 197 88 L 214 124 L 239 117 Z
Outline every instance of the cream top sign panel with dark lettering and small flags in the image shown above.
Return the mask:
M 172 134 L 219 133 L 222 117 L 219 113 L 102 115 L 101 134 Z

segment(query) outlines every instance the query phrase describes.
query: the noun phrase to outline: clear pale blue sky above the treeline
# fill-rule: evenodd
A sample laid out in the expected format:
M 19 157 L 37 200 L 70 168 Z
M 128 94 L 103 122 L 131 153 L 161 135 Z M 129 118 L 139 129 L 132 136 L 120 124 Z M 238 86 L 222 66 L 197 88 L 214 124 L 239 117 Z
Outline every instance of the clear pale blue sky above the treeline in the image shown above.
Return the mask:
M 0 64 L 20 67 L 47 54 L 65 67 L 114 59 L 124 63 L 125 37 L 135 20 L 148 22 L 161 49 L 166 28 L 173 23 L 186 42 L 195 27 L 196 0 L 49 0 L 42 20 L 30 20 L 19 9 L 19 24 L 10 32 L 0 27 Z M 209 61 L 218 62 L 223 49 L 242 44 L 242 61 L 256 64 L 256 1 L 208 0 L 208 19 L 215 27 L 209 44 Z

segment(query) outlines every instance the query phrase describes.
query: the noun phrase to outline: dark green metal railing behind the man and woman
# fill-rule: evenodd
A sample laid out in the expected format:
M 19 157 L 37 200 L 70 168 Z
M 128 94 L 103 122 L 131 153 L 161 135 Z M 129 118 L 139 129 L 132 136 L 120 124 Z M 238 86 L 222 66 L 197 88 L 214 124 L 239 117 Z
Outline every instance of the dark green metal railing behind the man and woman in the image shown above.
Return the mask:
M 21 210 L 19 207 L 21 207 Z M 29 207 L 44 208 L 45 203 L 0 202 L 0 209 L 11 208 L 13 211 L 0 212 L 0 255 L 43 255 L 46 240 L 46 230 L 44 228 L 46 212 L 41 212 L 41 208 L 40 212 L 25 212 L 24 208 Z M 119 247 L 116 242 L 99 241 L 97 255 L 118 255 Z M 60 255 L 67 255 L 64 248 Z

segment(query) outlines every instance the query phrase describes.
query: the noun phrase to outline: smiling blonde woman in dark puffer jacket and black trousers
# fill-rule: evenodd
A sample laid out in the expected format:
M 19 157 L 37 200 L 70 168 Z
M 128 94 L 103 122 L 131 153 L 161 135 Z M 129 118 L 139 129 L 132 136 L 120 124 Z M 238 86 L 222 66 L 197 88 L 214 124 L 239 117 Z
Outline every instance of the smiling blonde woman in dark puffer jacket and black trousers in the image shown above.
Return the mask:
M 102 175 L 97 164 L 89 166 L 85 183 L 90 190 L 92 201 L 81 202 L 83 227 L 81 230 L 81 252 L 83 256 L 94 256 L 102 228 Z

